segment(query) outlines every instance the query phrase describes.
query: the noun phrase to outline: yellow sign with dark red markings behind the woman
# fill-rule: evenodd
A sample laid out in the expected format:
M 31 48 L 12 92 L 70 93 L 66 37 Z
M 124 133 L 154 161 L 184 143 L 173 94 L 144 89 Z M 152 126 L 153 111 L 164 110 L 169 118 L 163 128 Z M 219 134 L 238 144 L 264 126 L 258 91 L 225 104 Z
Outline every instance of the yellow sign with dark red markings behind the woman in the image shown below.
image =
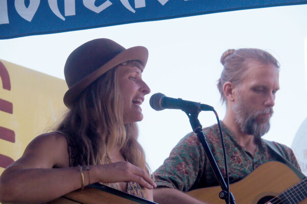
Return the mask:
M 0 60 L 0 174 L 67 110 L 64 80 Z

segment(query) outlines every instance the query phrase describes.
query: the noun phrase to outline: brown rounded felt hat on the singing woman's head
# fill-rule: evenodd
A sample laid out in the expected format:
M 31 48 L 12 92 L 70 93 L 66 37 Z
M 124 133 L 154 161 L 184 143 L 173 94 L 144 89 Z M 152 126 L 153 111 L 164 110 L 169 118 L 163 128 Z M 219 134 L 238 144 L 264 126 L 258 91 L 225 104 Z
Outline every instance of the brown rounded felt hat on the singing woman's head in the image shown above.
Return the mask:
M 113 40 L 99 38 L 77 47 L 68 57 L 64 75 L 69 90 L 64 95 L 68 108 L 82 91 L 113 67 L 129 61 L 138 60 L 145 67 L 148 50 L 143 46 L 124 48 Z

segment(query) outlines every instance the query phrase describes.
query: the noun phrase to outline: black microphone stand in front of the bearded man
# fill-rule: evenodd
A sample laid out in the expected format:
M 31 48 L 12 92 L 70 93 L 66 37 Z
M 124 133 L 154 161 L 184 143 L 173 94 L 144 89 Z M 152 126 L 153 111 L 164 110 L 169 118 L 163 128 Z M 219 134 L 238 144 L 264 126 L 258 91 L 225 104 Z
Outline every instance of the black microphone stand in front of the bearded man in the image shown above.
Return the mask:
M 193 129 L 194 133 L 197 135 L 199 141 L 202 143 L 203 148 L 204 148 L 205 153 L 206 153 L 206 156 L 209 159 L 210 165 L 211 165 L 213 172 L 214 172 L 214 175 L 217 179 L 217 182 L 218 182 L 218 184 L 220 184 L 220 186 L 222 188 L 222 191 L 218 194 L 218 196 L 221 199 L 224 199 L 226 201 L 226 203 L 228 203 L 227 201 L 228 201 L 228 189 L 229 189 L 229 187 L 225 183 L 225 180 L 222 176 L 222 173 L 221 173 L 220 169 L 218 168 L 216 161 L 215 161 L 215 159 L 212 155 L 212 152 L 210 150 L 210 147 L 207 143 L 206 136 L 203 133 L 202 125 L 201 125 L 201 123 L 198 119 L 198 115 L 200 113 L 200 110 L 198 110 L 198 108 L 195 108 L 195 107 L 185 107 L 185 108 L 182 109 L 182 111 L 184 111 L 188 115 L 192 129 Z M 229 193 L 229 197 L 230 197 L 229 198 L 230 203 L 235 204 L 235 200 L 234 200 L 234 197 L 233 197 L 231 192 Z

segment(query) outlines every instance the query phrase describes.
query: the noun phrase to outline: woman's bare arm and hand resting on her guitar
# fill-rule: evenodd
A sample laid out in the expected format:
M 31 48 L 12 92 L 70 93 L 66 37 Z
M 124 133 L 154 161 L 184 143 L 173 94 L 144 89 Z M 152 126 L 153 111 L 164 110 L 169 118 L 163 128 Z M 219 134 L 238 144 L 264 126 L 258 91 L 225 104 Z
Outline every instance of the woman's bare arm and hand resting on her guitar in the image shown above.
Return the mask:
M 89 185 L 89 181 L 134 181 L 146 188 L 155 185 L 145 171 L 128 162 L 90 166 L 89 172 L 86 171 L 83 166 L 84 186 Z M 79 167 L 69 167 L 66 139 L 57 133 L 43 134 L 2 173 L 0 202 L 47 202 L 79 188 L 81 172 Z

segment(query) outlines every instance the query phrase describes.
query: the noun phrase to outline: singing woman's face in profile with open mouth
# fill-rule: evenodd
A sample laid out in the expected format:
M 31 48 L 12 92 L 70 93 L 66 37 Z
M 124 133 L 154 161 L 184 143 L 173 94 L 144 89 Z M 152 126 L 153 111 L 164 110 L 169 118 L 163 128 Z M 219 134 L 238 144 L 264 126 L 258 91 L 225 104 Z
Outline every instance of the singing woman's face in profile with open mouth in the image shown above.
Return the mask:
M 140 105 L 144 96 L 150 93 L 147 84 L 142 80 L 142 71 L 137 66 L 118 66 L 119 89 L 122 94 L 124 124 L 143 119 Z

